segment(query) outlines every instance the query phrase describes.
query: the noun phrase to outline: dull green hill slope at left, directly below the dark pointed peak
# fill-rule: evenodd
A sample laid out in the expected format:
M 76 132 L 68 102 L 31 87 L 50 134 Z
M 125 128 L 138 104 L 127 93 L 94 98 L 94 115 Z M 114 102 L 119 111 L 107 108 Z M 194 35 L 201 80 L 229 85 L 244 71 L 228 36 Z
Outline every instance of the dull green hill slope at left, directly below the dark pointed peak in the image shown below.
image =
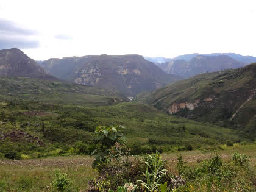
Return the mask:
M 112 105 L 128 101 L 118 91 L 24 77 L 0 77 L 0 90 L 0 99 L 3 101 L 13 99 L 19 101 L 21 99 L 83 107 Z

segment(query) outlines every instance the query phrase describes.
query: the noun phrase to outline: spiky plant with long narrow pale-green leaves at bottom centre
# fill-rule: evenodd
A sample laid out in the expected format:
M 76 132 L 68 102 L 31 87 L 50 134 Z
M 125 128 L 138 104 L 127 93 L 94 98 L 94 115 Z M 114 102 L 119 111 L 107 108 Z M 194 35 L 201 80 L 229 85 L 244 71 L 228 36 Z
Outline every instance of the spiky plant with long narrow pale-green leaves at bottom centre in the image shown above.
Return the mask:
M 164 163 L 162 157 L 159 154 L 148 155 L 148 161 L 145 162 L 147 165 L 144 176 L 146 177 L 146 182 L 143 180 L 138 180 L 141 182 L 141 187 L 145 187 L 148 191 L 155 191 L 160 187 L 160 179 L 166 174 L 166 169 L 163 169 Z

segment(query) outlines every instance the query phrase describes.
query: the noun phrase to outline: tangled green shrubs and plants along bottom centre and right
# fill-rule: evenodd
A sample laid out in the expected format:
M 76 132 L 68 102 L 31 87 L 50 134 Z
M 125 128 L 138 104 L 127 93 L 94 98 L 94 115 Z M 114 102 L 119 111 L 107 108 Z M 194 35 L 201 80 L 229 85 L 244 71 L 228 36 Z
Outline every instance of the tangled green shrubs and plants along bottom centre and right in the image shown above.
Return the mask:
M 116 146 L 116 144 L 115 144 Z M 114 146 L 113 146 L 114 147 Z M 96 157 L 97 158 L 97 157 Z M 255 172 L 244 154 L 234 152 L 224 162 L 219 154 L 187 166 L 180 155 L 176 170 L 162 160 L 160 154 L 142 159 L 110 158 L 99 161 L 99 178 L 90 184 L 90 190 L 112 191 L 254 191 Z M 171 163 L 171 162 L 169 162 Z M 145 170 L 146 171 L 143 171 Z M 129 183 L 127 182 L 129 181 Z M 135 185 L 137 183 L 137 185 Z

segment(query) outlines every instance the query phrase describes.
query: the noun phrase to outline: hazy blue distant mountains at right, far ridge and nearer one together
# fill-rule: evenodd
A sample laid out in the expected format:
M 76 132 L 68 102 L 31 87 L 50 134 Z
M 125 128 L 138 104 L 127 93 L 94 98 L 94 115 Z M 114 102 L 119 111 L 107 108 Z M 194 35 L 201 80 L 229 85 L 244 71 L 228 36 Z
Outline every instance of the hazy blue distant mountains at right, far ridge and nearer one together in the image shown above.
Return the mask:
M 230 57 L 231 59 L 227 59 L 228 57 Z M 168 74 L 177 74 L 186 78 L 194 76 L 196 74 L 206 73 L 207 71 L 213 72 L 222 69 L 240 68 L 242 66 L 245 66 L 244 64 L 256 62 L 256 57 L 243 56 L 234 53 L 194 53 L 180 55 L 172 59 L 167 59 L 165 57 L 144 58 L 155 63 L 155 65 L 157 65 Z

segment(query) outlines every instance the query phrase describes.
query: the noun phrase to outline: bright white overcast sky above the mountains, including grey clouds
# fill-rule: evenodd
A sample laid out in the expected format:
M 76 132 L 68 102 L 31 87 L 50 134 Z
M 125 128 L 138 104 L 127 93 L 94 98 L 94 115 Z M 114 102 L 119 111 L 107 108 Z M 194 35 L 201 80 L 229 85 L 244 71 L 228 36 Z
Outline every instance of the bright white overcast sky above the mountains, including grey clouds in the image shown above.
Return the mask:
M 1 0 L 0 49 L 35 60 L 99 54 L 256 56 L 255 0 Z

